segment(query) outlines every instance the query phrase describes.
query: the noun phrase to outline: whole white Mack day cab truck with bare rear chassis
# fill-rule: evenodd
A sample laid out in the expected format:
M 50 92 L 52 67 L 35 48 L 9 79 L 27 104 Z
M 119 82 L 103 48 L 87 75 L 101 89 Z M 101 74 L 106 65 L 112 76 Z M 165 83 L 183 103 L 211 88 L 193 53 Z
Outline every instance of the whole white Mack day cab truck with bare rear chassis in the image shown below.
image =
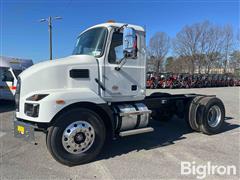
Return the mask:
M 153 120 L 185 118 L 205 134 L 221 131 L 225 108 L 215 96 L 146 96 L 146 40 L 142 27 L 104 23 L 77 38 L 69 57 L 36 64 L 18 79 L 15 137 L 46 134 L 49 152 L 73 166 L 92 161 L 107 140 L 148 133 Z

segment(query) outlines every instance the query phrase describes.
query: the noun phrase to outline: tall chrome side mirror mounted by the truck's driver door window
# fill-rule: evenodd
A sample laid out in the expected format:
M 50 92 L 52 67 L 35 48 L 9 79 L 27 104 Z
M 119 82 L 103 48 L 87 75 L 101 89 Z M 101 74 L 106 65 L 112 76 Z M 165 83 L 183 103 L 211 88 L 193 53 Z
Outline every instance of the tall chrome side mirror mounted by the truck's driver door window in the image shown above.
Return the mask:
M 125 58 L 137 57 L 137 35 L 133 28 L 123 29 L 123 56 Z

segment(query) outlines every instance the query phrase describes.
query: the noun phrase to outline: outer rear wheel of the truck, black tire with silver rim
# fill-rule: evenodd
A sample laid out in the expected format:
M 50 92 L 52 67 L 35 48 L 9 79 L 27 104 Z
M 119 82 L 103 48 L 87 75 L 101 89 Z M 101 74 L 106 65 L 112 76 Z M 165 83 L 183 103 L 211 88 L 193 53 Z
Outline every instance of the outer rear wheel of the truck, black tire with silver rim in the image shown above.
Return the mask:
M 205 134 L 217 134 L 224 125 L 225 108 L 216 97 L 205 97 L 200 101 L 200 130 Z

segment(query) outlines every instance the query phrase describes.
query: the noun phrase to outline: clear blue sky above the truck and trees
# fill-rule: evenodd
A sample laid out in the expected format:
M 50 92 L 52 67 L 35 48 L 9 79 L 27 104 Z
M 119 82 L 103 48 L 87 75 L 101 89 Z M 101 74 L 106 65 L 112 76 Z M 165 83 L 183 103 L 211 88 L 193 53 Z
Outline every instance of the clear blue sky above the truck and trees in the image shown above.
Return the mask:
M 240 29 L 239 0 L 0 0 L 2 56 L 49 59 L 47 23 L 53 21 L 53 58 L 71 55 L 79 33 L 108 20 L 145 26 L 147 43 L 158 31 L 174 38 L 185 25 L 208 20 Z

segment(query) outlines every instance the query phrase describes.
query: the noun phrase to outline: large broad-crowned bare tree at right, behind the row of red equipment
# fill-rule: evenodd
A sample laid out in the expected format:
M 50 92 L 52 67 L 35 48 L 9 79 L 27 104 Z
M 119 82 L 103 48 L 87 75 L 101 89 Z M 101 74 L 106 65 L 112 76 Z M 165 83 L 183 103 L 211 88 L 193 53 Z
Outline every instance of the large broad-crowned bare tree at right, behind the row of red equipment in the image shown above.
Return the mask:
M 227 47 L 226 44 L 230 47 L 230 32 L 229 29 L 226 28 L 223 31 L 221 27 L 208 21 L 185 26 L 176 35 L 173 44 L 174 52 L 179 56 L 188 57 L 191 63 L 191 73 L 196 70 L 201 73 L 203 69 L 209 73 L 211 68 L 219 66 L 224 42 L 225 47 Z M 225 49 L 229 56 L 229 49 Z

